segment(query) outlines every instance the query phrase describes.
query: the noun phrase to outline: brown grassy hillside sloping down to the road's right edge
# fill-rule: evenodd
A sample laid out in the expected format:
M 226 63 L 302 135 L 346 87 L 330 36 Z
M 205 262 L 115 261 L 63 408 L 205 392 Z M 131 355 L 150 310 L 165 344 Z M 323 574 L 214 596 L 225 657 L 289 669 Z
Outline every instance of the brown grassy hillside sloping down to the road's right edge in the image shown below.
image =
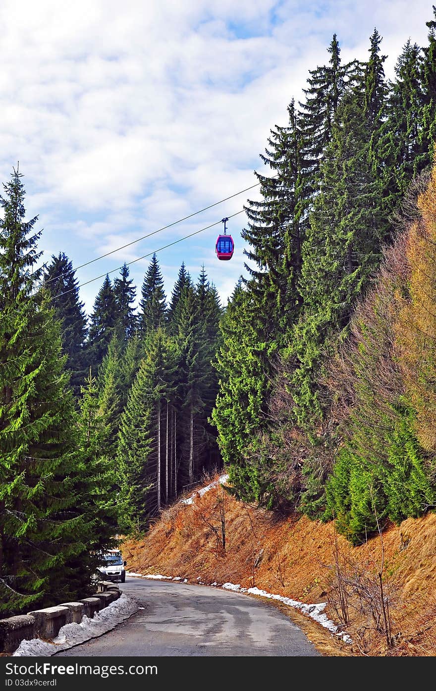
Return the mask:
M 345 612 L 343 629 L 352 636 L 351 645 L 298 610 L 276 603 L 325 655 L 436 654 L 434 513 L 390 525 L 382 538 L 351 547 L 335 536 L 332 523 L 256 509 L 218 484 L 196 495 L 193 504 L 164 511 L 144 539 L 124 541 L 123 553 L 129 570 L 144 575 L 255 585 L 303 603 L 327 602 L 325 614 L 337 625 Z

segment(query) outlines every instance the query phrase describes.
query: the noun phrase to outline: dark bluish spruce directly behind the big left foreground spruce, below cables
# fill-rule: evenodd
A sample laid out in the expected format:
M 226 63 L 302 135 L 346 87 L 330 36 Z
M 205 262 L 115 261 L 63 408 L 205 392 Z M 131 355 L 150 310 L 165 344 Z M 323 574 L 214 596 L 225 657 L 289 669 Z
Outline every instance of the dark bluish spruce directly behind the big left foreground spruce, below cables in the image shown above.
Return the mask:
M 70 385 L 77 398 L 86 376 L 84 345 L 87 326 L 84 303 L 79 301 L 78 281 L 73 265 L 64 252 L 52 256 L 44 281 L 57 319 L 61 322 L 62 350 L 67 356 L 66 368 L 70 372 Z

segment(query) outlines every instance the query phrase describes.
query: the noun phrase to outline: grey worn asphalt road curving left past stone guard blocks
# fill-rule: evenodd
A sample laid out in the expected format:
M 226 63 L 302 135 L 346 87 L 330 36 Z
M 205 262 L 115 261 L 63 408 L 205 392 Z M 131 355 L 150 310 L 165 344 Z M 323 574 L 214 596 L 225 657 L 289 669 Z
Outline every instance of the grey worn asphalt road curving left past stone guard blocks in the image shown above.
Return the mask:
M 285 614 L 249 596 L 127 576 L 144 609 L 60 656 L 319 656 Z

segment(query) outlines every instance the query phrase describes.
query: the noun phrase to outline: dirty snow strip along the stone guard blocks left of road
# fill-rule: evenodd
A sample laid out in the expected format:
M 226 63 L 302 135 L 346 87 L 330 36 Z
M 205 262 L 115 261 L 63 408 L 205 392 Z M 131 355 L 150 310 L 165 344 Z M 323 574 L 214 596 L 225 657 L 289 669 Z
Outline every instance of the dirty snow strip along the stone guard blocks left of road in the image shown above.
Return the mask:
M 66 624 L 61 627 L 59 634 L 53 638 L 53 643 L 46 643 L 40 638 L 33 638 L 32 641 L 21 641 L 17 650 L 12 653 L 13 657 L 44 655 L 51 656 L 61 650 L 89 641 L 90 638 L 97 638 L 115 625 L 128 619 L 138 610 L 136 600 L 124 593 L 99 612 L 95 612 L 92 619 L 84 616 L 79 624 Z

